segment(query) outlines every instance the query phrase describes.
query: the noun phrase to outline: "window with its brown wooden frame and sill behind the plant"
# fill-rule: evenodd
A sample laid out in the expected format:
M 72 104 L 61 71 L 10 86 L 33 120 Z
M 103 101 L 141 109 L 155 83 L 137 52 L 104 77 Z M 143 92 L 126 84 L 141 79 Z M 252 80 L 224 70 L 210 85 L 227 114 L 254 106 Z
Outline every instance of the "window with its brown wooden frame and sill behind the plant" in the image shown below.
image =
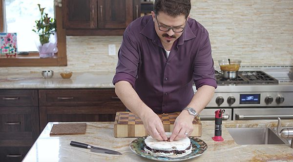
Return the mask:
M 35 41 L 38 35 L 32 31 L 35 20 L 40 19 L 37 4 L 41 4 L 49 17 L 57 24 L 58 53 L 53 58 L 41 59 Z M 16 58 L 0 57 L 3 66 L 66 66 L 66 39 L 62 28 L 62 8 L 54 8 L 54 0 L 0 0 L 0 32 L 17 33 L 18 51 L 29 51 L 29 55 Z

